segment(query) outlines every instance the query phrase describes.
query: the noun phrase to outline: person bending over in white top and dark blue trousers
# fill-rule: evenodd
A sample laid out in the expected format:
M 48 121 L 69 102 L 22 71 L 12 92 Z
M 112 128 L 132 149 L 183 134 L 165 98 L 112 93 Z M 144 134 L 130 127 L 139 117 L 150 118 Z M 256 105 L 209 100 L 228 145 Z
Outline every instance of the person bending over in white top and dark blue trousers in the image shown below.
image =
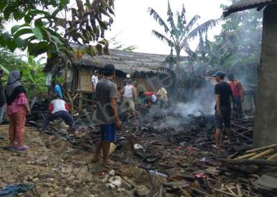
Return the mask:
M 61 99 L 60 95 L 57 95 L 55 100 L 52 100 L 49 106 L 51 112 L 44 120 L 42 131 L 45 131 L 48 124 L 58 118 L 62 118 L 66 124 L 71 126 L 71 131 L 75 132 L 76 123 L 72 115 L 69 113 L 69 105 Z

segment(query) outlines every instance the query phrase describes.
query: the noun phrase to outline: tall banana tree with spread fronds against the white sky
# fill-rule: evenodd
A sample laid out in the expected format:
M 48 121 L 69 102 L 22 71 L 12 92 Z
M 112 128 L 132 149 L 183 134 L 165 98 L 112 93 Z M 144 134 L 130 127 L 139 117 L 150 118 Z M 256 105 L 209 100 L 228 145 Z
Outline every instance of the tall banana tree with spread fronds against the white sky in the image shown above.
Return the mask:
M 181 12 L 177 12 L 177 19 L 175 21 L 173 12 L 170 8 L 170 2 L 168 1 L 168 19 L 167 23 L 164 21 L 160 15 L 153 9 L 149 8 L 150 15 L 159 23 L 161 27 L 164 28 L 164 33 L 158 32 L 157 30 L 152 30 L 153 35 L 165 41 L 168 46 L 175 49 L 177 66 L 176 71 L 179 71 L 180 68 L 180 55 L 184 50 L 189 56 L 193 56 L 193 50 L 190 49 L 188 41 L 199 35 L 202 35 L 204 32 L 207 32 L 208 29 L 213 28 L 218 24 L 219 19 L 211 19 L 206 21 L 204 24 L 201 24 L 195 27 L 195 24 L 200 19 L 199 15 L 195 15 L 193 19 L 189 22 L 186 21 L 186 9 L 183 5 Z

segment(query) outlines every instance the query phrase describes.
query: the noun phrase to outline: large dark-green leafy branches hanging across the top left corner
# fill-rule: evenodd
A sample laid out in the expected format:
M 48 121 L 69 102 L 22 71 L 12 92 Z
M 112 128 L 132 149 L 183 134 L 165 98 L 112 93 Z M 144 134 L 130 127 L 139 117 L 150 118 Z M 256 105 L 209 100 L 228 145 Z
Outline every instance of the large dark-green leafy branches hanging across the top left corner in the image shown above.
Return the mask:
M 61 19 L 58 16 L 66 8 L 69 1 L 66 0 L 43 0 L 33 1 L 30 6 L 29 1 L 5 1 L 0 4 L 1 16 L 8 19 L 19 21 L 24 19 L 24 24 L 13 26 L 10 32 L 5 32 L 0 36 L 0 45 L 10 51 L 28 49 L 29 55 L 41 55 L 47 53 L 48 57 L 57 57 L 65 53 L 69 58 L 73 50 L 69 46 L 71 39 L 83 44 L 89 41 L 98 41 L 105 36 L 105 30 L 111 25 L 114 15 L 114 0 L 95 0 L 82 3 L 76 0 L 78 8 L 71 8 L 71 19 Z M 20 6 L 18 6 L 20 5 Z M 55 10 L 51 13 L 51 9 Z M 104 20 L 104 16 L 109 21 Z M 62 30 L 60 30 L 62 28 Z M 61 33 L 64 32 L 62 36 Z M 98 41 L 96 46 L 90 46 L 85 53 L 97 55 L 108 53 L 108 42 L 103 39 Z

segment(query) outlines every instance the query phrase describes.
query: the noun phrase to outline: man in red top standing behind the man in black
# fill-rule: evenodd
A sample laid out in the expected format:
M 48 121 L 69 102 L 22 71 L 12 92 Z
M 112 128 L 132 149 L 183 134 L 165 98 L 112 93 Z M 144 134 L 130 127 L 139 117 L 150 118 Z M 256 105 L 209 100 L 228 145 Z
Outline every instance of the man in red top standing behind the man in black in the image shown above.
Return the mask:
M 235 108 L 237 109 L 237 118 L 240 119 L 243 116 L 243 111 L 242 111 L 242 102 L 244 102 L 243 86 L 240 83 L 240 81 L 235 79 L 232 73 L 228 75 L 228 79 L 230 81 L 229 85 L 231 86 L 233 96 L 234 96 Z

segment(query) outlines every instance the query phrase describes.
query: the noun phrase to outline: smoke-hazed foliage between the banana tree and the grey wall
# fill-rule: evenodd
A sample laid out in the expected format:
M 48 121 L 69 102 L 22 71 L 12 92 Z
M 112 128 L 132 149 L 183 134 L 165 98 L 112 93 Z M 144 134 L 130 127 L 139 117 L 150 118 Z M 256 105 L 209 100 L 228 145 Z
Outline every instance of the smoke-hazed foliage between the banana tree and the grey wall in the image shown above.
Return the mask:
M 208 41 L 207 37 L 203 41 L 204 55 L 200 59 L 215 70 L 238 73 L 241 78 L 245 74 L 249 76 L 247 81 L 256 82 L 261 39 L 262 12 L 246 10 L 233 13 L 224 18 L 222 31 L 215 36 L 215 41 Z

